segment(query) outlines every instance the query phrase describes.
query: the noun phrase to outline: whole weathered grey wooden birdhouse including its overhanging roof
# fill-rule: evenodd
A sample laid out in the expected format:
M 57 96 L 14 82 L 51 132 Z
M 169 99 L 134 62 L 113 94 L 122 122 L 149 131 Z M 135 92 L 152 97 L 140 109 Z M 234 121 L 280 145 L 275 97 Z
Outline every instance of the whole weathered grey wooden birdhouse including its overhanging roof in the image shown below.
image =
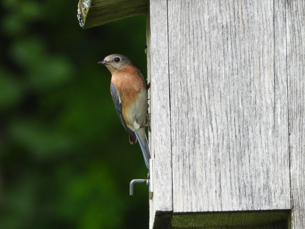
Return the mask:
M 305 4 L 80 0 L 147 14 L 149 228 L 305 228 Z

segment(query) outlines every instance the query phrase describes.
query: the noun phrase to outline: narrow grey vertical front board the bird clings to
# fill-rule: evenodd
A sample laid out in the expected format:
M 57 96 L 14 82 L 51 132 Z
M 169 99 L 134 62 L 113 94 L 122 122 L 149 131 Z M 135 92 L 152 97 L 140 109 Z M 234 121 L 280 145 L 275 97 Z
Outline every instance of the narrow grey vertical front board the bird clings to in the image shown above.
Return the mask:
M 169 215 L 173 210 L 166 8 L 166 0 L 150 1 L 147 17 L 148 81 L 151 82 L 149 146 L 154 168 L 154 193 L 149 202 L 150 228 L 156 212 Z M 157 216 L 162 217 L 162 214 Z

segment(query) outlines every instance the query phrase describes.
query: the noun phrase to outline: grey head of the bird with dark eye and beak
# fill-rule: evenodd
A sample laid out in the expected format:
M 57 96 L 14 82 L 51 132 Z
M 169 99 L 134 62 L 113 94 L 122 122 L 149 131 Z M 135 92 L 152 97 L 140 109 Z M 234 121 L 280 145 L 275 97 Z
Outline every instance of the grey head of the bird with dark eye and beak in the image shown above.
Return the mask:
M 100 61 L 98 64 L 105 65 L 110 72 L 117 71 L 128 65 L 133 65 L 127 56 L 121 54 L 112 54 L 106 56 L 104 60 Z

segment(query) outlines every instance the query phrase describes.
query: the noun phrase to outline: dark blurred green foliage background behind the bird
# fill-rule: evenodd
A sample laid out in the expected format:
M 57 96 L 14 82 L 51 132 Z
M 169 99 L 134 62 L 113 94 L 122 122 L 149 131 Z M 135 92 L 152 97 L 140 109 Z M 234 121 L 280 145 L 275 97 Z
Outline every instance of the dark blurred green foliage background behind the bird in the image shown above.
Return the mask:
M 97 64 L 146 75 L 146 16 L 81 29 L 77 0 L 2 0 L 0 228 L 148 228 L 148 187 Z

